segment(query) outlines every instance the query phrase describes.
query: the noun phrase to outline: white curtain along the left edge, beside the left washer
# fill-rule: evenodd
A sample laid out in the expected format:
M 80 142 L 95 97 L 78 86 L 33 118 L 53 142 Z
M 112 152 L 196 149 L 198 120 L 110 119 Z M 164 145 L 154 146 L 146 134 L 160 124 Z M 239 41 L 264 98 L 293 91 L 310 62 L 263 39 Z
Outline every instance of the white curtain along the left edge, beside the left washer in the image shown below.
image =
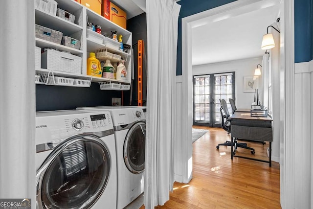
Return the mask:
M 35 208 L 34 1 L 1 0 L 0 24 L 0 198 Z

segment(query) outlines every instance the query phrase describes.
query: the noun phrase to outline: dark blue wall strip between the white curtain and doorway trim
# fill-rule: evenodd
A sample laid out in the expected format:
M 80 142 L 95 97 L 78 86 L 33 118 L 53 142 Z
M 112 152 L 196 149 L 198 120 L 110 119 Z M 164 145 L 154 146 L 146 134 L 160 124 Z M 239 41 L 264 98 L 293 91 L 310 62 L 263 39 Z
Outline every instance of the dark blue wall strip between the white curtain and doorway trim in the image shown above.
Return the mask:
M 178 2 L 181 8 L 178 20 L 177 75 L 181 75 L 181 19 L 233 1 L 235 0 L 180 0 Z

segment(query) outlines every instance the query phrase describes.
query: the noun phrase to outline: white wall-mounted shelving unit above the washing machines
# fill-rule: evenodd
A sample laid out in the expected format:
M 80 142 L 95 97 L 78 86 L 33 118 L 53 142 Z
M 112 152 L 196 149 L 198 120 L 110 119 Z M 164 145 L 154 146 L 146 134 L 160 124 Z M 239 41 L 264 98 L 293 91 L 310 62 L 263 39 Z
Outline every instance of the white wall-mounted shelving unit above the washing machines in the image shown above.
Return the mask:
M 36 0 L 35 0 L 36 1 Z M 55 0 L 58 8 L 67 10 L 72 15 L 75 15 L 74 23 L 71 23 L 56 15 L 49 14 L 35 9 L 35 23 L 44 27 L 57 30 L 63 33 L 63 36 L 68 36 L 81 41 L 80 49 L 56 44 L 50 41 L 46 41 L 40 38 L 36 38 L 36 46 L 43 48 L 53 48 L 59 51 L 67 51 L 73 55 L 82 58 L 82 74 L 72 74 L 66 72 L 56 72 L 49 69 L 36 69 L 36 79 L 42 78 L 38 75 L 47 75 L 45 82 L 37 82 L 36 84 L 46 85 L 61 85 L 61 86 L 76 86 L 76 87 L 89 87 L 91 82 L 99 83 L 100 89 L 103 90 L 129 90 L 131 85 L 132 64 L 131 53 L 126 53 L 114 48 L 108 47 L 104 44 L 97 43 L 87 38 L 87 20 L 94 25 L 101 25 L 102 34 L 105 37 L 111 36 L 111 31 L 117 31 L 117 35 L 123 36 L 123 43 L 132 46 L 132 33 L 120 27 L 119 25 L 112 23 L 104 17 L 93 12 L 89 8 L 86 8 L 82 4 L 75 0 Z M 127 69 L 127 81 L 119 81 L 116 79 L 108 79 L 87 75 L 87 59 L 90 52 L 95 52 L 97 49 L 105 48 L 106 51 L 121 56 L 121 60 L 124 61 L 124 65 Z M 112 59 L 114 62 L 118 62 L 118 59 Z M 104 61 L 104 60 L 100 60 Z M 64 79 L 60 79 L 64 78 Z M 63 82 L 64 81 L 64 82 Z M 77 83 L 78 81 L 78 83 Z M 105 86 L 106 88 L 103 88 Z M 110 88 L 111 86 L 111 88 Z M 119 87 L 119 88 L 118 88 Z

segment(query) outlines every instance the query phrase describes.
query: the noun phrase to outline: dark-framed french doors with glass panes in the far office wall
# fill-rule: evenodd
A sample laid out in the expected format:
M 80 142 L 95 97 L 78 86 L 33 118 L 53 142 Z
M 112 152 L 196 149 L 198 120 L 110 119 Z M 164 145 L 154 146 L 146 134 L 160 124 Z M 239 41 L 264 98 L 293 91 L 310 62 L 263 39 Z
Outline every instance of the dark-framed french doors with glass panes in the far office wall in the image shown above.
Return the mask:
M 229 98 L 235 99 L 235 72 L 195 75 L 193 84 L 193 124 L 220 127 L 220 99 L 225 99 L 231 113 Z

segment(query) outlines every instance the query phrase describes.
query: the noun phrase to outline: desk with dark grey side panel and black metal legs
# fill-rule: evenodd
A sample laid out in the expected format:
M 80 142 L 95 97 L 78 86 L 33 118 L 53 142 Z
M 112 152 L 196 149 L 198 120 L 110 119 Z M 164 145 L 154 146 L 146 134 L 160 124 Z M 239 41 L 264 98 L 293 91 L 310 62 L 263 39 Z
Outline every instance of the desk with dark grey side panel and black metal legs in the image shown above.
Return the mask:
M 231 146 L 231 159 L 233 157 L 245 158 L 254 161 L 269 163 L 271 166 L 271 151 L 272 151 L 272 121 L 270 117 L 251 117 L 250 113 L 235 112 L 231 117 L 231 143 L 234 138 L 247 139 L 253 141 L 269 141 L 269 161 L 264 161 L 255 158 L 234 155 L 233 146 Z

